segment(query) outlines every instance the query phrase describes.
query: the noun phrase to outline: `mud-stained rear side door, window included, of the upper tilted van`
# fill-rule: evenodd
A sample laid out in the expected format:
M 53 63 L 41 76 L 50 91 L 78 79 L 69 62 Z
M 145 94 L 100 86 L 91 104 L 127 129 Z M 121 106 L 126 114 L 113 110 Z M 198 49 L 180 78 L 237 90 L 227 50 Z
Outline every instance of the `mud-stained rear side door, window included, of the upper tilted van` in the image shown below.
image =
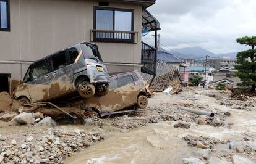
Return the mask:
M 59 51 L 52 55 L 51 64 L 53 72 L 51 73 L 51 81 L 49 83 L 48 98 L 53 99 L 60 97 L 68 92 L 74 91 L 73 86 L 73 68 L 67 57 L 67 49 Z

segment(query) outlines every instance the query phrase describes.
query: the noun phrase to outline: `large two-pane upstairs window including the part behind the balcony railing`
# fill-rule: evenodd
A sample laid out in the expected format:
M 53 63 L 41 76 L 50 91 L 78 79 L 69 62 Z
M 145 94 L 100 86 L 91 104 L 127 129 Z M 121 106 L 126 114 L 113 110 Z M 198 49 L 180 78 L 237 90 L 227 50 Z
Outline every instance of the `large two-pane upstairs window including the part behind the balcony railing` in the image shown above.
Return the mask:
M 134 42 L 134 11 L 95 7 L 94 41 Z

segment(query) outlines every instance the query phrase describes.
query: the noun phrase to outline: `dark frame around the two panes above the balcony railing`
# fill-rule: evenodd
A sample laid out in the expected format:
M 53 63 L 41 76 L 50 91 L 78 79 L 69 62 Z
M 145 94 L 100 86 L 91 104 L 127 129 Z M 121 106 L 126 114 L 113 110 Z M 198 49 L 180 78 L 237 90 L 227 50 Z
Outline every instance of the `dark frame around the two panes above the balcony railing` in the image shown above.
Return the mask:
M 110 11 L 113 11 L 114 14 L 113 14 L 113 30 L 116 31 L 114 29 L 115 27 L 115 12 L 116 11 L 121 11 L 121 12 L 131 12 L 132 13 L 132 27 L 131 27 L 131 30 L 132 32 L 134 31 L 134 10 L 133 9 L 122 9 L 122 8 L 114 8 L 114 7 L 100 7 L 100 6 L 94 6 L 94 9 L 93 9 L 93 29 L 97 30 L 96 29 L 96 10 L 110 10 Z

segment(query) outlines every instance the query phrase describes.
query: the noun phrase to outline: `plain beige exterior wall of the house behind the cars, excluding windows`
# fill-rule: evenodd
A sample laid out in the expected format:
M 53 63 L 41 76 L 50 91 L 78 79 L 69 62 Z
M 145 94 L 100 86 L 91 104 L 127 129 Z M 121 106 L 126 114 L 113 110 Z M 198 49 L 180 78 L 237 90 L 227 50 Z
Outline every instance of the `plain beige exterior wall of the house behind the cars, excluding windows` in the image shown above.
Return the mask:
M 30 62 L 90 41 L 93 6 L 98 6 L 97 0 L 11 0 L 11 31 L 0 31 L 0 73 L 22 79 Z M 140 70 L 142 6 L 109 2 L 109 7 L 134 10 L 139 39 L 137 44 L 96 43 L 103 61 L 109 72 Z M 128 64 L 122 67 L 122 63 Z

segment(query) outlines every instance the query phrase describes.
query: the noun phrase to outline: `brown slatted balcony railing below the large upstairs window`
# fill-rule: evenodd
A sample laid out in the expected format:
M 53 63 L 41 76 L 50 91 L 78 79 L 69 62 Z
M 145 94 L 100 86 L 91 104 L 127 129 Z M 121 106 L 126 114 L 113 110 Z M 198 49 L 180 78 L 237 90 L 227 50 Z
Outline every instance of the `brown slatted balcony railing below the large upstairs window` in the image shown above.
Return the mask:
M 90 41 L 108 43 L 138 43 L 138 32 L 90 30 Z

